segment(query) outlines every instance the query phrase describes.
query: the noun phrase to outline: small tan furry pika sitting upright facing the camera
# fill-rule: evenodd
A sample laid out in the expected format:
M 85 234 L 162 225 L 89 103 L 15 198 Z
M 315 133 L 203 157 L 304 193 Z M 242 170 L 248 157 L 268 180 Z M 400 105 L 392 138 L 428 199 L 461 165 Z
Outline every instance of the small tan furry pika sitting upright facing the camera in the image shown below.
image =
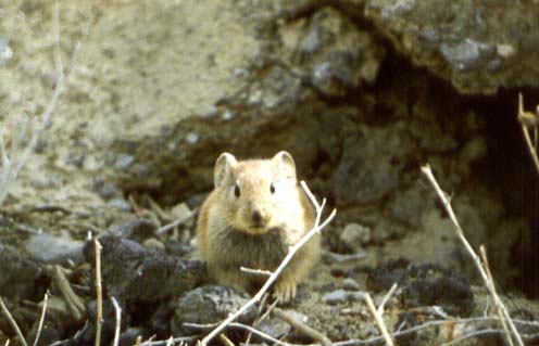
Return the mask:
M 314 207 L 286 151 L 268 159 L 239 162 L 223 153 L 215 162 L 214 184 L 197 223 L 200 255 L 218 283 L 252 293 L 267 277 L 240 268 L 277 269 L 289 246 L 313 228 Z M 279 274 L 274 293 L 281 302 L 296 296 L 299 282 L 318 260 L 319 246 L 316 234 Z

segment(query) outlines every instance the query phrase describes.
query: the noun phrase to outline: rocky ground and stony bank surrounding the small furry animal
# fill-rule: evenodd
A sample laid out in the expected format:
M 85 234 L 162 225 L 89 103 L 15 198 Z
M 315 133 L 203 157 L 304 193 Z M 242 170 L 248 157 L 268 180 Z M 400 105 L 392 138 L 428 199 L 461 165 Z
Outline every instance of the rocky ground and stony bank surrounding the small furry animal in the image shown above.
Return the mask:
M 8 149 L 58 82 L 53 9 L 0 1 Z M 0 209 L 0 296 L 28 343 L 47 292 L 39 345 L 95 343 L 95 238 L 102 345 L 116 326 L 110 297 L 122 345 L 203 337 L 208 328 L 189 323 L 214 323 L 249 298 L 193 259 L 215 158 L 279 150 L 338 209 L 321 264 L 284 313 L 334 343 L 381 345 L 364 296 L 380 304 L 397 282 L 384 318 L 399 345 L 504 345 L 421 174 L 429 163 L 471 243 L 485 244 L 526 344 L 538 343 L 538 176 L 516 121 L 518 92 L 527 110 L 539 104 L 537 1 L 60 1 L 59 18 L 66 69 L 82 51 Z M 239 322 L 313 343 L 262 311 Z M 226 335 L 272 344 L 241 325 Z M 8 339 L 20 343 L 2 313 Z

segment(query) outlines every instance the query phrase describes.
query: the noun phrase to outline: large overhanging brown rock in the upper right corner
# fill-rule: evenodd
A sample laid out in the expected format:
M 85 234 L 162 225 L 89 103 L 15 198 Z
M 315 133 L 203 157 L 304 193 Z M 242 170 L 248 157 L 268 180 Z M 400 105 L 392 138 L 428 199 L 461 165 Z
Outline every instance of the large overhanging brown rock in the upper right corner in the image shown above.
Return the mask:
M 532 2 L 369 0 L 365 16 L 414 64 L 462 93 L 539 85 Z

